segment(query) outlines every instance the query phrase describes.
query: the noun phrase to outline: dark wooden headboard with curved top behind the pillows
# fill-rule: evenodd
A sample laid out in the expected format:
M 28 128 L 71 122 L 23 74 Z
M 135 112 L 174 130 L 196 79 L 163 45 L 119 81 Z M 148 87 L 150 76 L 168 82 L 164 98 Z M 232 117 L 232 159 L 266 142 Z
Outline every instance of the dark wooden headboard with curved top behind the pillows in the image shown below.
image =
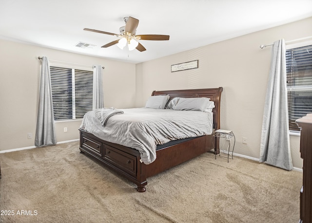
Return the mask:
M 220 100 L 222 87 L 219 88 L 208 88 L 208 89 L 190 89 L 190 90 L 171 90 L 171 91 L 154 91 L 154 95 L 169 95 L 170 98 L 174 97 L 209 97 L 211 101 L 215 102 L 214 113 L 214 129 L 220 129 Z

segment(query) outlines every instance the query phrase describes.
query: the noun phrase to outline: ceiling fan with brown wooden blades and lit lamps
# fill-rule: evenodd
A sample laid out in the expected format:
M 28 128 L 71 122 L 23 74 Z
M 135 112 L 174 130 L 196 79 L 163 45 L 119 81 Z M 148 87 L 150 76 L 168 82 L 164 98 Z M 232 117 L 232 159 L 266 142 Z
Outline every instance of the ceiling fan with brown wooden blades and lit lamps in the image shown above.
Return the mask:
M 104 31 L 99 31 L 95 29 L 87 29 L 87 28 L 84 28 L 83 30 L 121 37 L 120 39 L 114 40 L 110 43 L 103 45 L 102 46 L 103 48 L 107 48 L 109 46 L 113 46 L 117 44 L 117 46 L 120 49 L 123 49 L 128 44 L 129 50 L 137 49 L 138 51 L 142 52 L 142 51 L 145 51 L 146 49 L 142 44 L 140 44 L 137 41 L 139 39 L 140 40 L 169 40 L 169 36 L 167 35 L 136 35 L 138 19 L 135 19 L 132 17 L 125 17 L 123 19 L 126 25 L 119 28 L 120 34 L 108 33 Z

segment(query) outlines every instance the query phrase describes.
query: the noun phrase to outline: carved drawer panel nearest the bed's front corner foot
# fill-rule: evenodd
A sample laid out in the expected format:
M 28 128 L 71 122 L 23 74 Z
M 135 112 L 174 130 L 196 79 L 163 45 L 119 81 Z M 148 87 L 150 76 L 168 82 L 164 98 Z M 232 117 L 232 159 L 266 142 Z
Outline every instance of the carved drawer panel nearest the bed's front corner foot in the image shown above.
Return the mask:
M 104 145 L 104 160 L 117 164 L 117 166 L 133 175 L 136 176 L 137 174 L 137 158 L 129 153 L 116 149 L 114 147 Z

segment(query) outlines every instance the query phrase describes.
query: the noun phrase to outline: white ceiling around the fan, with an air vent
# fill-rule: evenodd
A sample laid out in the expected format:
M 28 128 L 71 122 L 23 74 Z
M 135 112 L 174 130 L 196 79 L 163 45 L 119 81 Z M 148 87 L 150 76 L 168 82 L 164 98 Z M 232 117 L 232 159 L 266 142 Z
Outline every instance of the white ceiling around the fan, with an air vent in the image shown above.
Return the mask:
M 144 52 L 101 48 L 117 37 L 83 30 L 118 34 L 128 16 L 137 34 L 170 40 L 139 40 Z M 0 0 L 0 38 L 139 63 L 308 17 L 312 0 Z

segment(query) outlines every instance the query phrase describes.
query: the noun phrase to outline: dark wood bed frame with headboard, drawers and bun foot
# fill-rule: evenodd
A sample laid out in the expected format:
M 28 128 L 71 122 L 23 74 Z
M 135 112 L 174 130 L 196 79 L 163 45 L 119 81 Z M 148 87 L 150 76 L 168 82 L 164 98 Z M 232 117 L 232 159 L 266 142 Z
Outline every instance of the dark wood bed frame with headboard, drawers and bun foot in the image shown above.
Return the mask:
M 220 98 L 223 88 L 195 89 L 195 90 L 173 90 L 154 91 L 153 95 L 170 95 L 174 97 L 209 97 L 215 102 L 214 130 L 220 129 Z M 163 172 L 188 161 L 204 152 L 215 149 L 217 141 L 212 135 L 196 137 L 182 143 L 156 150 L 156 160 L 146 165 L 140 162 L 140 154 L 136 149 L 124 147 L 99 139 L 93 134 L 79 129 L 81 153 L 87 153 L 100 160 L 104 166 L 115 170 L 121 176 L 126 177 L 137 185 L 138 192 L 144 192 L 147 185 L 147 178 Z M 218 148 L 218 146 L 216 146 Z

